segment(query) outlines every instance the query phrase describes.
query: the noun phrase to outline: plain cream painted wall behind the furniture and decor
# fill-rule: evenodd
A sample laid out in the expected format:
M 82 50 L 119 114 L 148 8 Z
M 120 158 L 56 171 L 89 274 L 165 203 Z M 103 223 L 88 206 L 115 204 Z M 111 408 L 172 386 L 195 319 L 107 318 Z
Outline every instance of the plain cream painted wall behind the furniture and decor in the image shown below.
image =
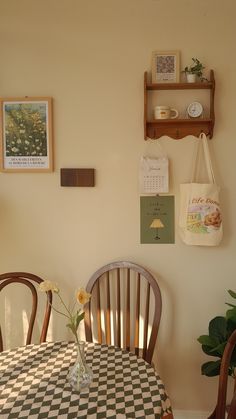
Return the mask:
M 54 173 L 0 175 L 0 270 L 57 280 L 69 299 L 109 261 L 148 267 L 163 295 L 155 360 L 181 410 L 214 404 L 217 380 L 201 376 L 196 339 L 235 289 L 235 18 L 234 0 L 0 0 L 0 94 L 52 96 L 55 138 Z M 177 233 L 174 245 L 140 244 L 143 72 L 153 50 L 167 49 L 181 51 L 182 67 L 197 56 L 215 70 L 210 147 L 225 229 L 217 248 L 187 247 Z M 161 143 L 177 225 L 194 139 Z M 61 167 L 94 167 L 96 187 L 60 187 Z M 52 326 L 52 338 L 67 338 L 61 318 Z

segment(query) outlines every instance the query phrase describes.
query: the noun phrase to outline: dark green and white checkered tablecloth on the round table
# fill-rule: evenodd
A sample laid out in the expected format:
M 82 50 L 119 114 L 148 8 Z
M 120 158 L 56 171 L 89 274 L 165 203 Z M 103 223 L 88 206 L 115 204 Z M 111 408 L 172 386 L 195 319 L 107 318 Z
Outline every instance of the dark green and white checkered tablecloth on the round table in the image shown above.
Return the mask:
M 170 401 L 154 369 L 113 346 L 86 343 L 89 390 L 68 384 L 74 343 L 28 345 L 0 353 L 0 418 L 162 418 Z

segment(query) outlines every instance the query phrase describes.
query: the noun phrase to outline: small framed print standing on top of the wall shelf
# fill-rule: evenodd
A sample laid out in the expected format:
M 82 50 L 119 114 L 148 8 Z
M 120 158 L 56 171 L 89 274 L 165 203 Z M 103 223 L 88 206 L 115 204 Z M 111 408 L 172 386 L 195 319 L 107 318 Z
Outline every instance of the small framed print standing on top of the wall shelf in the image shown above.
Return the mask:
M 153 51 L 152 83 L 178 83 L 180 76 L 179 51 Z

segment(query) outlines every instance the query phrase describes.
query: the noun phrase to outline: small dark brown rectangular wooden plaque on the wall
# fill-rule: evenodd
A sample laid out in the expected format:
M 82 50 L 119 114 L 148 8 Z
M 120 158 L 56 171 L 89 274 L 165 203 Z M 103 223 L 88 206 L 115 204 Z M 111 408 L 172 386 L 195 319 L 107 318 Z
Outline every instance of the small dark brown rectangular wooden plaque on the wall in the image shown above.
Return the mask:
M 94 169 L 61 169 L 61 186 L 94 186 Z

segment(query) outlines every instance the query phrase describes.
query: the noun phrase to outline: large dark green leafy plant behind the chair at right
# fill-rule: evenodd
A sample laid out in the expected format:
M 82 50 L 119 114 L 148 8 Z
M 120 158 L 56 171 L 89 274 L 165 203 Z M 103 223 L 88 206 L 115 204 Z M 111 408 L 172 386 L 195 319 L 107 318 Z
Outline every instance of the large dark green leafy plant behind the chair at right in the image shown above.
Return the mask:
M 232 298 L 236 299 L 236 292 L 228 290 L 228 293 Z M 198 342 L 202 345 L 202 350 L 205 354 L 217 357 L 215 361 L 205 362 L 201 371 L 203 375 L 207 377 L 215 377 L 220 373 L 220 364 L 223 356 L 224 348 L 228 338 L 236 329 L 236 305 L 226 303 L 231 308 L 227 310 L 225 316 L 214 317 L 209 322 L 209 334 L 201 335 L 198 338 Z M 234 349 L 228 374 L 235 380 L 236 385 L 236 349 Z

